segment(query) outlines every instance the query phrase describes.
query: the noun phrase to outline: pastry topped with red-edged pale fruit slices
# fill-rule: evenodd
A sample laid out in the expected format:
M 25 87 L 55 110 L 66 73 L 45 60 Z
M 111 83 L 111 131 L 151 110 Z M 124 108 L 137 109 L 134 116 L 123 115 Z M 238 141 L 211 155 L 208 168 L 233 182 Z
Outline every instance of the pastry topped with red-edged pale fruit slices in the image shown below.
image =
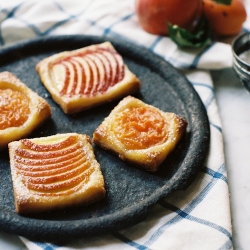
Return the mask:
M 139 79 L 110 42 L 52 55 L 40 61 L 36 69 L 54 101 L 67 114 L 140 89 Z

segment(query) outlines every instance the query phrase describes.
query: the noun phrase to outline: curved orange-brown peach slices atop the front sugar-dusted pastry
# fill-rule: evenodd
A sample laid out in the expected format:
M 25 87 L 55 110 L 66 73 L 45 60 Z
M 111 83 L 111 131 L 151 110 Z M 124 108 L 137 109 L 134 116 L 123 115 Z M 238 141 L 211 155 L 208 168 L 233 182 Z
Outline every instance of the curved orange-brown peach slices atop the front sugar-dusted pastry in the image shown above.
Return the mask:
M 93 169 L 76 136 L 63 140 L 21 140 L 15 166 L 22 182 L 38 195 L 63 195 L 88 182 Z M 60 194 L 61 193 L 61 194 Z

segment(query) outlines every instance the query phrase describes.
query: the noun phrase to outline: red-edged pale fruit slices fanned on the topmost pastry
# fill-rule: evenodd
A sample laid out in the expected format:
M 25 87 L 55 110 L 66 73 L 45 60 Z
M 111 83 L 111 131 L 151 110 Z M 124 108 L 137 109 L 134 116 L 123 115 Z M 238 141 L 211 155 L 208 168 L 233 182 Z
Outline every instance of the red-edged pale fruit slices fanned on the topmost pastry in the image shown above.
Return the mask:
M 108 48 L 87 50 L 74 56 L 60 59 L 50 65 L 64 68 L 63 86 L 60 95 L 95 96 L 106 92 L 109 87 L 124 77 L 124 63 L 121 56 Z M 57 81 L 60 85 L 60 81 Z

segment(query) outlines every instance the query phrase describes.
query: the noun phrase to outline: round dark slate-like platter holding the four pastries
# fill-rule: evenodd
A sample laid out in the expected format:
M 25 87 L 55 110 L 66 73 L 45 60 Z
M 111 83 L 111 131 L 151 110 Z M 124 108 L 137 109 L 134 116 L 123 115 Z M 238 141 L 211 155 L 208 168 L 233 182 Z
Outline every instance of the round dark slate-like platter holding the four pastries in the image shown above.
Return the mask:
M 86 207 L 51 211 L 36 216 L 15 212 L 7 149 L 0 152 L 0 230 L 34 240 L 57 241 L 87 237 L 119 230 L 145 219 L 151 207 L 176 189 L 186 188 L 199 172 L 209 147 L 206 110 L 187 79 L 149 50 L 117 39 L 95 36 L 56 36 L 25 41 L 0 51 L 0 72 L 9 71 L 45 98 L 52 107 L 52 118 L 30 135 L 41 137 L 77 132 L 92 137 L 119 100 L 100 107 L 66 115 L 40 81 L 35 70 L 43 58 L 57 52 L 111 41 L 125 63 L 141 80 L 141 91 L 134 95 L 163 111 L 174 112 L 188 121 L 187 132 L 159 172 L 147 173 L 94 145 L 105 178 L 107 196 Z

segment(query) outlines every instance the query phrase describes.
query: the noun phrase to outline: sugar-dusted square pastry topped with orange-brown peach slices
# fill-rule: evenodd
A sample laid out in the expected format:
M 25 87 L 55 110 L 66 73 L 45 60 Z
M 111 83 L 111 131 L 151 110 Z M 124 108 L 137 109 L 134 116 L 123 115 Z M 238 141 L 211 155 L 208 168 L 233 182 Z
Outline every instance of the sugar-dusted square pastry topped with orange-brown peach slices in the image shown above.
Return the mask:
M 86 205 L 105 197 L 104 178 L 89 136 L 77 133 L 9 143 L 19 214 Z

